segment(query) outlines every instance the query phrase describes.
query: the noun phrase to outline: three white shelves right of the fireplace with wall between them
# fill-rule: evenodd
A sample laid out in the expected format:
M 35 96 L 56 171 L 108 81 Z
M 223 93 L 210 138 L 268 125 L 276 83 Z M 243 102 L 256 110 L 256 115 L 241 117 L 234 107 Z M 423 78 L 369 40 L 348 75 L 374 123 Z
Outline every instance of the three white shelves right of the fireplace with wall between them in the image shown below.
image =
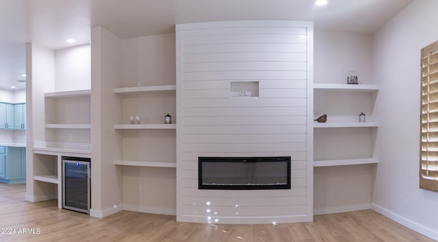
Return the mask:
M 377 163 L 372 143 L 378 122 L 372 117 L 378 86 L 313 84 L 314 118 L 327 114 L 326 123 L 313 123 L 314 167 Z M 365 122 L 359 114 L 365 113 Z

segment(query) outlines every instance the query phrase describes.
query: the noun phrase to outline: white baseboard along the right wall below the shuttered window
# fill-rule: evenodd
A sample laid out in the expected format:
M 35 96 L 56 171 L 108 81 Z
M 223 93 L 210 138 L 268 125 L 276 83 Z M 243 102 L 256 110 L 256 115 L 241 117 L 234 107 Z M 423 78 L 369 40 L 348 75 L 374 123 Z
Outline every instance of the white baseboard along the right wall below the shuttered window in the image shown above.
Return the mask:
M 405 217 L 397 215 L 396 213 L 393 213 L 390 210 L 387 210 L 386 208 L 383 208 L 383 207 L 378 206 L 376 204 L 371 204 L 371 209 L 376 211 L 377 213 L 380 213 L 382 215 L 385 215 L 386 217 L 389 217 L 389 219 L 392 219 L 392 220 L 396 221 L 397 223 L 400 223 L 403 226 L 406 226 L 407 228 L 410 228 L 411 230 L 415 230 L 416 232 L 419 232 L 420 234 L 423 234 L 424 236 L 429 237 L 430 239 L 435 239 L 436 241 L 438 241 L 438 231 L 437 230 L 433 230 L 433 229 L 428 228 L 426 226 L 422 226 L 419 223 L 415 223 L 414 221 L 411 221 Z

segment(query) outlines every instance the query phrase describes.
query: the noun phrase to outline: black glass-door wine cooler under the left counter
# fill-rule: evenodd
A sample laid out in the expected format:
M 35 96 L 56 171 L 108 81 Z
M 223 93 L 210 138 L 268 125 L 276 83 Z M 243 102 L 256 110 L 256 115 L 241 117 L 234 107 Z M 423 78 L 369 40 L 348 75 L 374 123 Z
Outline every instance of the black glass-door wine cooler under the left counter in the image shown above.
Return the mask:
M 62 208 L 90 214 L 90 158 L 62 157 Z

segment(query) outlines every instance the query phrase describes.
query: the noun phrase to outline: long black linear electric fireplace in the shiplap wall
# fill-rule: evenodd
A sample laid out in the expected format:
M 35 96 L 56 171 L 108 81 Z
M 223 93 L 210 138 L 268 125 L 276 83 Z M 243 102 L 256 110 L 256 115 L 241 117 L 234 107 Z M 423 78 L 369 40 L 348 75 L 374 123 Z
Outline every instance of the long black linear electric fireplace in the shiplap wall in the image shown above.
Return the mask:
M 198 189 L 290 189 L 290 156 L 199 157 Z

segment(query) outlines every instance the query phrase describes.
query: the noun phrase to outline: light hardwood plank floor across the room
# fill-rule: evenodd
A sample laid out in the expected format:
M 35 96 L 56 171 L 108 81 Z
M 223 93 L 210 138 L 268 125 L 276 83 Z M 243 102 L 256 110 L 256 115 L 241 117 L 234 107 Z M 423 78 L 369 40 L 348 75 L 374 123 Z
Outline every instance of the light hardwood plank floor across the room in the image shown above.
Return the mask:
M 25 202 L 25 185 L 0 183 L 0 241 L 434 241 L 373 210 L 318 215 L 279 225 L 180 223 L 174 216 L 122 211 L 97 219 L 58 209 L 56 201 Z M 10 229 L 5 230 L 5 229 Z M 23 232 L 34 234 L 23 234 Z

